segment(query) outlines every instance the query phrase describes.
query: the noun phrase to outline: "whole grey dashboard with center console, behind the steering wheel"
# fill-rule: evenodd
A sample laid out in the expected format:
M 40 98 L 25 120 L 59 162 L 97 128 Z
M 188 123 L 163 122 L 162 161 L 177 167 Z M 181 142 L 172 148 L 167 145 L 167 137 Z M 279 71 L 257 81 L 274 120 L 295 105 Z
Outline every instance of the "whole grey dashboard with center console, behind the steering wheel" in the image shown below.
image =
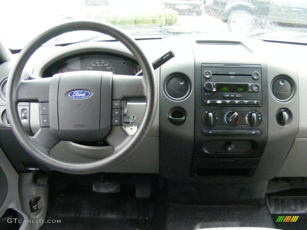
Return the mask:
M 107 172 L 155 173 L 192 183 L 307 176 L 307 72 L 299 55 L 307 52 L 306 46 L 211 36 L 170 36 L 137 43 L 151 60 L 169 50 L 175 57 L 155 70 L 160 103 L 144 143 Z M 0 83 L 12 63 L 0 65 Z M 50 77 L 80 70 L 134 75 L 140 67 L 118 42 L 84 42 L 41 47 L 24 74 Z M 38 103 L 19 107 L 23 124 L 37 132 Z M 124 113 L 135 115 L 138 126 L 145 107 L 144 101 L 127 101 Z M 18 145 L 9 124 L 2 124 L 4 111 L 5 97 L 0 97 L 0 145 L 14 167 L 25 171 L 24 163 L 35 163 L 48 171 Z M 86 163 L 99 159 L 99 148 L 62 141 L 50 155 Z M 65 154 L 61 149 L 67 150 Z

